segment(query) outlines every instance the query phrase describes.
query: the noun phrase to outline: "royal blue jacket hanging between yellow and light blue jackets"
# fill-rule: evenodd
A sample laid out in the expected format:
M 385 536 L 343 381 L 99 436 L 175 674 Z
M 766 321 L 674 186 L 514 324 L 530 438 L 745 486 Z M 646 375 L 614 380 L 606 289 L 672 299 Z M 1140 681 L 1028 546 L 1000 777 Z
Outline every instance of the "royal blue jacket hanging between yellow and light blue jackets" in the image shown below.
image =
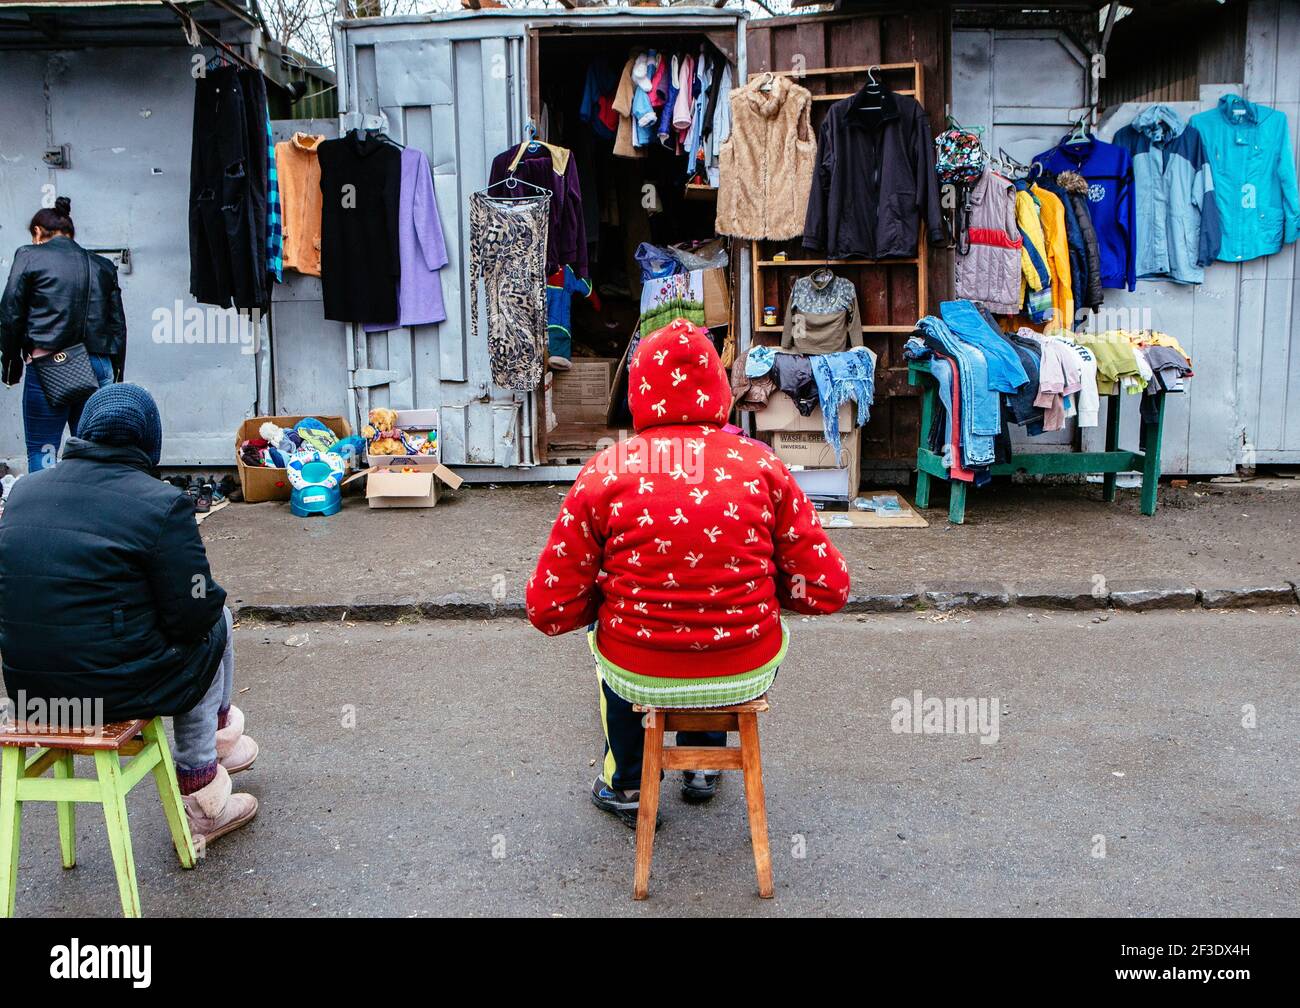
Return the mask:
M 1101 286 L 1138 287 L 1134 261 L 1134 163 L 1123 147 L 1089 135 L 1082 143 L 1069 137 L 1034 160 L 1049 172 L 1078 172 L 1088 179 L 1088 209 L 1097 233 Z

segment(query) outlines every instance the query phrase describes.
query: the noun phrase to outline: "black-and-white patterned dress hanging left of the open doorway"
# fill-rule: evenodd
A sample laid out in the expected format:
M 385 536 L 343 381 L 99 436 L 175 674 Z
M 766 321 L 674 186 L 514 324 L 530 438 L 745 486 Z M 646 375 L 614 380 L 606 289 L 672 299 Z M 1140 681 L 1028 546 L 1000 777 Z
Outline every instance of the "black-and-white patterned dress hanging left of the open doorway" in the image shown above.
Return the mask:
M 488 294 L 494 385 L 530 391 L 546 351 L 546 228 L 550 194 L 469 198 L 469 324 L 478 341 L 478 281 Z

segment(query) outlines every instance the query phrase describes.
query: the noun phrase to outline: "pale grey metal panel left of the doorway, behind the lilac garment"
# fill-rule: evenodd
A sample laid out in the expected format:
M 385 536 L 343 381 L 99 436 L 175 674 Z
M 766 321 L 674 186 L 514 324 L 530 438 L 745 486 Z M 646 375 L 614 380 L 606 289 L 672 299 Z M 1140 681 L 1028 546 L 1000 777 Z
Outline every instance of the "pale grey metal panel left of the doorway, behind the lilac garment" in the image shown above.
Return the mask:
M 524 34 L 524 22 L 503 18 L 361 22 L 344 33 L 347 111 L 385 116 L 389 135 L 429 156 L 448 258 L 445 323 L 354 333 L 359 412 L 437 407 L 452 466 L 532 460 L 521 450 L 528 398 L 491 385 L 486 329 L 469 336 L 469 221 L 460 212 L 486 183 L 491 159 L 523 135 Z

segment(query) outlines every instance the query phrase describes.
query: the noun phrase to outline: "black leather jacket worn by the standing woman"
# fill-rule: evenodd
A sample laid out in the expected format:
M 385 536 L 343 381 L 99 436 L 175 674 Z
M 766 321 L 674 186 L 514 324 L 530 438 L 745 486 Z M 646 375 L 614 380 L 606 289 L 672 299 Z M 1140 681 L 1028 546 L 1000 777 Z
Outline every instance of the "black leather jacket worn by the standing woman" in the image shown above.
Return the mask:
M 84 326 L 82 306 L 86 306 Z M 61 235 L 43 245 L 22 246 L 13 254 L 9 282 L 0 298 L 4 384 L 13 385 L 22 377 L 23 354 L 32 347 L 62 350 L 82 342 L 91 354 L 110 358 L 114 377 L 121 381 L 126 316 L 117 267 Z

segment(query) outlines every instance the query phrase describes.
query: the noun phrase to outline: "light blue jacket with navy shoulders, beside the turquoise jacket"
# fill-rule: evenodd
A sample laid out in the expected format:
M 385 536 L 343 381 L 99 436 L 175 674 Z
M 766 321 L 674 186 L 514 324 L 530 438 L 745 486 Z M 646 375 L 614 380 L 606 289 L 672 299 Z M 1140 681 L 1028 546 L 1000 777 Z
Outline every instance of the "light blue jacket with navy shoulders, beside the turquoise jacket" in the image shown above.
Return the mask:
M 1200 284 L 1222 235 L 1201 134 L 1169 105 L 1150 105 L 1115 134 L 1132 155 L 1138 277 Z

